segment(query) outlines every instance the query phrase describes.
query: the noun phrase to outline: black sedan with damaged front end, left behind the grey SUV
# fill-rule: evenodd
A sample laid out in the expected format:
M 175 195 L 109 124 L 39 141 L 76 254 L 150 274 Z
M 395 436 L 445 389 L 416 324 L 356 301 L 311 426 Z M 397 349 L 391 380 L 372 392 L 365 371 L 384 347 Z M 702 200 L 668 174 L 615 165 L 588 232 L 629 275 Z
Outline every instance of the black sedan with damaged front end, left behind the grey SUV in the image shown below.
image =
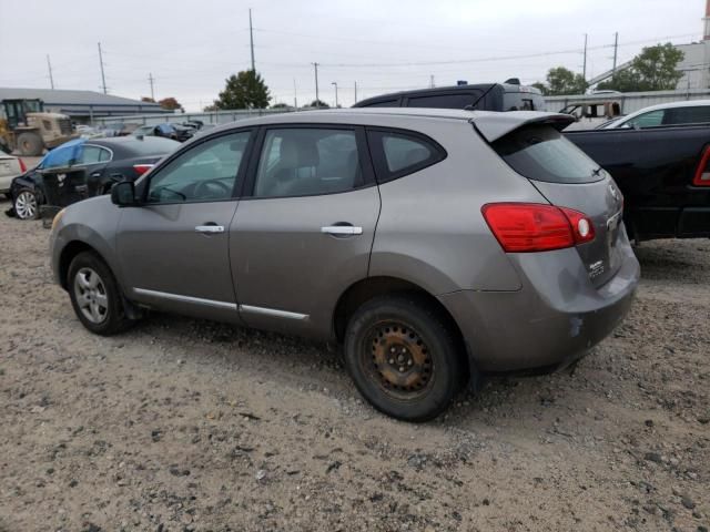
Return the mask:
M 45 180 L 61 183 L 69 180 L 71 191 L 64 190 L 63 201 L 72 203 L 105 194 L 120 181 L 135 181 L 178 146 L 179 142 L 152 136 L 77 140 L 62 144 L 49 152 L 38 166 L 12 180 L 9 214 L 21 219 L 39 218 L 40 205 L 53 203 Z

